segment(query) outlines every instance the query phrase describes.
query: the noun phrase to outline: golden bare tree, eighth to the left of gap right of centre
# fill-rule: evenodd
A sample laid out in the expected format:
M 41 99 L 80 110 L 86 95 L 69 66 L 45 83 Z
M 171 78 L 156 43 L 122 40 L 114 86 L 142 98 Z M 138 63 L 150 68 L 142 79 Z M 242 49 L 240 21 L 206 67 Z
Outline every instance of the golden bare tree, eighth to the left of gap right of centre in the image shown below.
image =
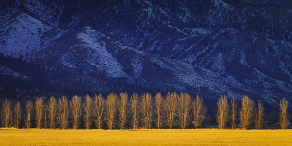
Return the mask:
M 107 110 L 106 122 L 109 129 L 112 129 L 115 125 L 117 101 L 118 101 L 117 94 L 110 93 L 108 95 L 108 99 L 106 101 L 106 110 Z

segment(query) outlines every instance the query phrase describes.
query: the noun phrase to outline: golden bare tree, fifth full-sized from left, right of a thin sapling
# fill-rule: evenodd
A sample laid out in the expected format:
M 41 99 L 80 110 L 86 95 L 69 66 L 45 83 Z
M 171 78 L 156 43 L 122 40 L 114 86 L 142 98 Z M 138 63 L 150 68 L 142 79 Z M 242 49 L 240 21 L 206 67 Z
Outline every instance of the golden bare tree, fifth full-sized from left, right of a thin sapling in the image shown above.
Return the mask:
M 48 101 L 49 127 L 55 128 L 57 116 L 57 100 L 52 96 Z

